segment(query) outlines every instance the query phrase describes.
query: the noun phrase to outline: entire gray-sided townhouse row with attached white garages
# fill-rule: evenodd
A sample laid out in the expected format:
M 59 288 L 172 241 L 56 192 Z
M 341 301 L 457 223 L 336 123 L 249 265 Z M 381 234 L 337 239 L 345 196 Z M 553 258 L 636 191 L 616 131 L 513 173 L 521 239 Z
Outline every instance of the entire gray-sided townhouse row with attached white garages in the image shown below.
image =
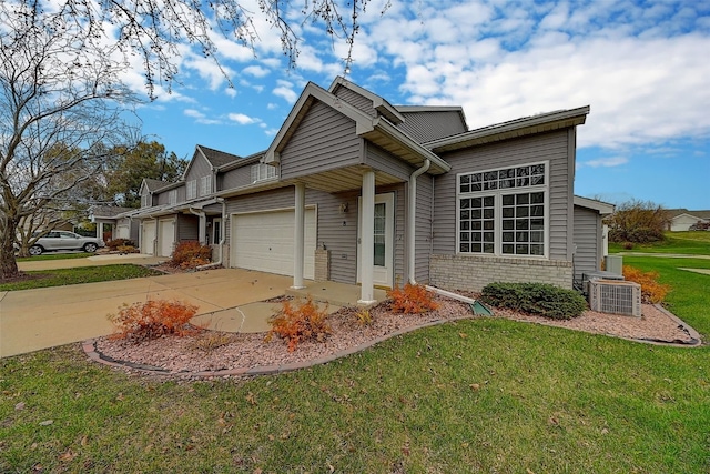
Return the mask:
M 293 275 L 294 286 L 361 284 L 362 302 L 407 281 L 571 288 L 575 265 L 599 270 L 612 209 L 574 196 L 588 113 L 468 130 L 459 107 L 395 107 L 343 78 L 308 83 L 264 152 L 197 145 L 179 182 L 145 180 L 141 250 L 168 256 L 199 240 L 225 266 Z

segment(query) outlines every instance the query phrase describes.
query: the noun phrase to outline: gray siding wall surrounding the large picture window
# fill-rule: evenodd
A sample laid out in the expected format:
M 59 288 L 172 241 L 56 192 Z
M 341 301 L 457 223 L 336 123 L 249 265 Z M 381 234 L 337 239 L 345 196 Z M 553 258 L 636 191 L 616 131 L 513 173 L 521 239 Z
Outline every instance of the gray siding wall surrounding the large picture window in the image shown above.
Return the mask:
M 456 253 L 456 174 L 549 161 L 549 233 L 550 260 L 569 260 L 569 205 L 572 202 L 567 130 L 507 140 L 443 154 L 452 170 L 436 177 L 434 202 L 434 253 Z M 571 169 L 574 173 L 574 169 Z M 571 236 L 569 236 L 571 241 Z

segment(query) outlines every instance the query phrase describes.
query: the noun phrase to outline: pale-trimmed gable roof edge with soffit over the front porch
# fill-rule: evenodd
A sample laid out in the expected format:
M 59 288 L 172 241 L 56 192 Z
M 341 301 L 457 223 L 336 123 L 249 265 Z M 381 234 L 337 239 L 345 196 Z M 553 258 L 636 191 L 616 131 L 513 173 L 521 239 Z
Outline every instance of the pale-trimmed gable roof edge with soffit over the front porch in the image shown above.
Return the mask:
M 448 163 L 422 147 L 384 115 L 373 118 L 313 82 L 306 84 L 301 97 L 298 97 L 298 100 L 288 113 L 286 121 L 278 130 L 278 133 L 276 133 L 274 141 L 264 154 L 264 163 L 278 163 L 281 161 L 281 151 L 286 147 L 286 143 L 288 143 L 288 140 L 293 137 L 298 124 L 316 100 L 353 120 L 355 122 L 355 132 L 361 138 L 369 140 L 414 167 L 418 168 L 425 160 L 429 160 L 429 173 L 439 174 L 450 170 Z

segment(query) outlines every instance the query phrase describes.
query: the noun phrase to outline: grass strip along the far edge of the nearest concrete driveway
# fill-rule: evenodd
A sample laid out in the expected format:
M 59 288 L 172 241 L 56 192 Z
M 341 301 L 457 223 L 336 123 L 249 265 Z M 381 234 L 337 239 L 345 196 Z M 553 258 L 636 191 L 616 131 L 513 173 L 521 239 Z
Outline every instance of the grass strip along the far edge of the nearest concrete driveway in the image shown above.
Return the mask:
M 62 286 L 79 283 L 108 282 L 113 280 L 161 275 L 162 273 L 140 265 L 116 264 L 24 272 L 24 274 L 27 274 L 29 279 L 12 283 L 1 283 L 0 291 L 31 290 L 37 288 Z

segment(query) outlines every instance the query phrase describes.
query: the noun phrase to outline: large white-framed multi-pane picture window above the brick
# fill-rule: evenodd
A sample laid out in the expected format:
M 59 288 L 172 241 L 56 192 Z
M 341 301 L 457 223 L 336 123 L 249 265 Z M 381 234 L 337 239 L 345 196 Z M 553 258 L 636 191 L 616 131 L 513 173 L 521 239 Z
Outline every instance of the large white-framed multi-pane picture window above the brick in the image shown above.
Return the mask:
M 462 173 L 458 253 L 547 255 L 547 163 Z

